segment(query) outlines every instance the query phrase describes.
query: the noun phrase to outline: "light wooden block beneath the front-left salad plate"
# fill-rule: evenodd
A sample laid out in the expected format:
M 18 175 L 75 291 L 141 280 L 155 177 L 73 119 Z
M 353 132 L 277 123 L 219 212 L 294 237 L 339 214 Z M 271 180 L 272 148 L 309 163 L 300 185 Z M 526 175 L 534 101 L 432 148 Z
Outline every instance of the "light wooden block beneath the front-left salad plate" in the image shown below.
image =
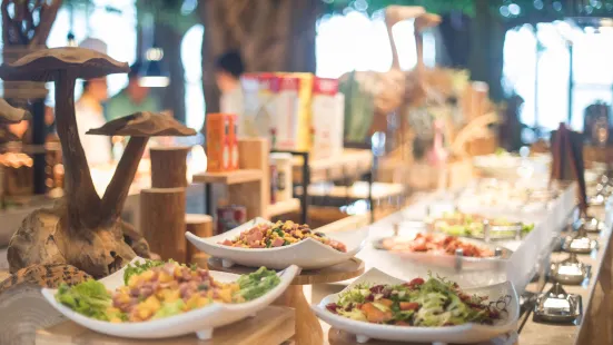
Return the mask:
M 195 334 L 166 339 L 129 339 L 103 335 L 72 322 L 40 329 L 36 333 L 37 345 L 251 345 L 281 344 L 295 333 L 294 309 L 269 306 L 255 317 L 216 328 L 210 341 L 199 341 Z M 2 343 L 4 344 L 4 343 Z

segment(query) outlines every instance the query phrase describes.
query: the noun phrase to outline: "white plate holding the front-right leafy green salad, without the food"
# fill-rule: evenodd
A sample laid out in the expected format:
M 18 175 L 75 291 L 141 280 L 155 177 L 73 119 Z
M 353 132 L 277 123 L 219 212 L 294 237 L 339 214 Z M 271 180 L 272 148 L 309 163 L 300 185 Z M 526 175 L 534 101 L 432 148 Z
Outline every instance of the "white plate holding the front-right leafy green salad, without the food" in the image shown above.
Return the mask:
M 343 292 L 353 288 L 358 284 L 401 284 L 402 279 L 394 278 L 385 273 L 372 268 Z M 415 342 L 415 343 L 453 343 L 472 344 L 492 339 L 496 336 L 515 331 L 517 318 L 520 317 L 520 303 L 513 284 L 510 282 L 491 285 L 487 287 L 467 288 L 468 294 L 478 294 L 488 296 L 490 300 L 501 300 L 501 305 L 506 305 L 506 313 L 502 313 L 504 319 L 495 325 L 464 324 L 459 326 L 446 327 L 403 327 L 393 325 L 378 325 L 366 322 L 353 321 L 326 309 L 326 305 L 338 300 L 338 295 L 329 295 L 318 305 L 312 305 L 312 309 L 324 322 L 330 324 L 337 329 L 355 334 L 358 343 L 366 343 L 370 338 L 395 341 L 395 342 Z M 506 303 L 502 302 L 506 300 Z M 505 315 L 506 314 L 506 315 Z

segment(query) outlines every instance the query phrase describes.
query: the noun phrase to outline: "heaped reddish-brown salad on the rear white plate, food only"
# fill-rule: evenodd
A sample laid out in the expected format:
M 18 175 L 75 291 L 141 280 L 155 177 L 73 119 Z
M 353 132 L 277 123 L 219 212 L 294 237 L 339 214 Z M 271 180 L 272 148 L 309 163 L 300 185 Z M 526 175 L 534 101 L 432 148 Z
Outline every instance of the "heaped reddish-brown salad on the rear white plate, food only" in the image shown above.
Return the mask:
M 298 225 L 291 220 L 258 224 L 240 233 L 235 239 L 226 239 L 220 244 L 241 248 L 275 248 L 289 246 L 307 238 L 318 240 L 338 252 L 347 252 L 343 243 L 330 239 L 324 233 L 312 230 L 306 224 Z

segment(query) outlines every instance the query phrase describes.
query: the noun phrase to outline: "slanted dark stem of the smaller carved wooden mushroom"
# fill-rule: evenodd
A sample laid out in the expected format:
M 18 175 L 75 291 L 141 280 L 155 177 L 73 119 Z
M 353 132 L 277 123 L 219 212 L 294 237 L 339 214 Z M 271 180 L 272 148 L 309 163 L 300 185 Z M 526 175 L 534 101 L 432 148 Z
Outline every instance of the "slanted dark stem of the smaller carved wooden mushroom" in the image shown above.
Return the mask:
M 100 207 L 100 223 L 102 225 L 113 221 L 121 215 L 130 185 L 135 179 L 140 158 L 145 152 L 148 141 L 148 137 L 131 137 L 130 141 L 128 141 L 128 146 L 102 197 Z

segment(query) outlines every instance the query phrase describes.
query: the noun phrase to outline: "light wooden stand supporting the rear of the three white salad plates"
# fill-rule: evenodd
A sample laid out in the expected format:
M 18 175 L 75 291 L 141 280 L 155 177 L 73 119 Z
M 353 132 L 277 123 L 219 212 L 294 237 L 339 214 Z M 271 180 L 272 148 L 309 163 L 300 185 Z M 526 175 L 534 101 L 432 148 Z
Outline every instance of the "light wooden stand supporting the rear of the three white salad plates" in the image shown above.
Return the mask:
M 257 268 L 245 266 L 233 266 L 225 268 L 221 259 L 210 258 L 208 260 L 209 269 L 228 272 L 234 274 L 248 274 Z M 303 270 L 295 277 L 291 286 L 277 299 L 276 305 L 283 305 L 296 309 L 296 335 L 294 341 L 297 345 L 322 345 L 324 344 L 324 332 L 319 319 L 310 310 L 303 292 L 303 285 L 328 284 L 355 278 L 364 273 L 364 263 L 354 257 L 345 263 L 335 266 Z

